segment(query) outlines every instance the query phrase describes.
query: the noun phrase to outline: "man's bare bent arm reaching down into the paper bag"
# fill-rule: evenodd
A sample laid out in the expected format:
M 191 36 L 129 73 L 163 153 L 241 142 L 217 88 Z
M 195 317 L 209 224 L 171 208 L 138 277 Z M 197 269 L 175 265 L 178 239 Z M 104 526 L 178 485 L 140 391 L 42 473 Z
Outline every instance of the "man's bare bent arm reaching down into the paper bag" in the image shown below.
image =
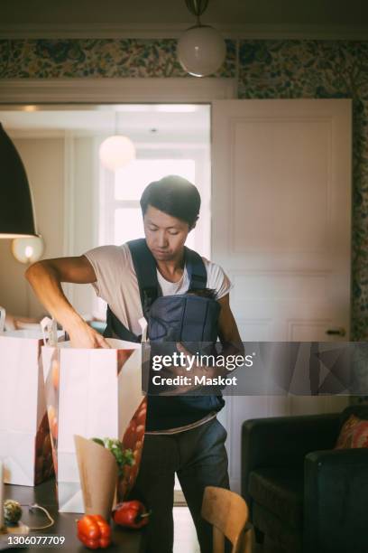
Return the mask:
M 25 273 L 41 304 L 69 333 L 73 346 L 108 348 L 101 334 L 91 328 L 64 295 L 62 282 L 91 284 L 97 277 L 85 256 L 78 258 L 44 259 L 34 263 Z

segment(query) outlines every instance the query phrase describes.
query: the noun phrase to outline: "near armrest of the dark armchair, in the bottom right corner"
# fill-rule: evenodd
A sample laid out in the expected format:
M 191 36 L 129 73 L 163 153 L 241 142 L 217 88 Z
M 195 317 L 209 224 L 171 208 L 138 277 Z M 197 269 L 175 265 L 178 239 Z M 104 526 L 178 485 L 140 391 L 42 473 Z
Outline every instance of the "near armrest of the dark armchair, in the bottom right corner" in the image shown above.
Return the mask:
M 304 472 L 304 550 L 365 553 L 368 449 L 310 453 Z

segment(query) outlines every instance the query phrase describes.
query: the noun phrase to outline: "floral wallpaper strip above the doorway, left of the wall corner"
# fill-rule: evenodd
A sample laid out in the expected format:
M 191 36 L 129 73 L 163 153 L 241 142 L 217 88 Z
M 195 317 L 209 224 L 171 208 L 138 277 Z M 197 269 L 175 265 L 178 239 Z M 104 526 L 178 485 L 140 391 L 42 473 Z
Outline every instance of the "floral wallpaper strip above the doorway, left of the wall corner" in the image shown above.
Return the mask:
M 188 77 L 173 39 L 0 41 L 0 79 L 57 77 Z M 235 76 L 235 44 L 216 76 Z

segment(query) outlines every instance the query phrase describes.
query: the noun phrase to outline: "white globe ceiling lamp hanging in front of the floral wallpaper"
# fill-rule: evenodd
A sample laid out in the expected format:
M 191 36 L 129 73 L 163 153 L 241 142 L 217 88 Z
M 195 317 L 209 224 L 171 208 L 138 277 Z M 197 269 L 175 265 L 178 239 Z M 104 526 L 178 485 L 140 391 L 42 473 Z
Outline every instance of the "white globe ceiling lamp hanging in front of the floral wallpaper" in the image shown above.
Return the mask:
M 190 75 L 205 77 L 220 69 L 225 61 L 223 36 L 207 25 L 187 29 L 178 42 L 178 59 Z

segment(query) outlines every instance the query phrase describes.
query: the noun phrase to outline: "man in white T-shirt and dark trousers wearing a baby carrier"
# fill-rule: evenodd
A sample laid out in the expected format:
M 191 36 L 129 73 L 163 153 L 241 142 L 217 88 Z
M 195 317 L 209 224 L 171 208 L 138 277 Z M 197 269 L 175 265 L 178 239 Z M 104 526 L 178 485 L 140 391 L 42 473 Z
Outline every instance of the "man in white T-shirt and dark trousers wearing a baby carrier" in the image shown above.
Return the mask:
M 184 294 L 189 288 L 184 244 L 198 220 L 198 190 L 185 179 L 168 176 L 151 183 L 144 190 L 141 207 L 146 244 L 156 262 L 161 293 Z M 230 281 L 221 267 L 207 259 L 203 259 L 203 262 L 207 269 L 207 288 L 215 291 L 216 300 L 221 305 L 219 338 L 225 347 L 238 344 L 241 348 L 241 339 L 229 306 Z M 108 344 L 69 304 L 62 292 L 62 282 L 92 284 L 97 295 L 106 300 L 115 317 L 134 335 L 141 333 L 139 319 L 143 316 L 143 309 L 127 244 L 95 248 L 78 258 L 43 260 L 32 265 L 26 277 L 41 303 L 69 333 L 73 346 L 104 348 Z M 171 403 L 174 401 L 175 407 L 175 398 L 170 400 Z M 155 405 L 155 409 L 160 410 L 160 402 Z M 205 414 L 194 408 L 190 412 L 189 399 L 184 405 L 188 424 L 175 424 L 173 414 L 167 417 L 163 428 L 162 425 L 157 428 L 154 426 L 154 413 L 150 416 L 149 398 L 149 432 L 146 432 L 144 438 L 142 464 L 133 492 L 152 509 L 147 528 L 150 553 L 172 551 L 175 473 L 178 474 L 196 524 L 201 551 L 212 553 L 211 529 L 201 519 L 200 509 L 207 485 L 229 487 L 226 432 L 216 419 L 216 411 L 222 405 L 214 405 Z M 156 415 L 161 415 L 162 420 L 162 413 Z

